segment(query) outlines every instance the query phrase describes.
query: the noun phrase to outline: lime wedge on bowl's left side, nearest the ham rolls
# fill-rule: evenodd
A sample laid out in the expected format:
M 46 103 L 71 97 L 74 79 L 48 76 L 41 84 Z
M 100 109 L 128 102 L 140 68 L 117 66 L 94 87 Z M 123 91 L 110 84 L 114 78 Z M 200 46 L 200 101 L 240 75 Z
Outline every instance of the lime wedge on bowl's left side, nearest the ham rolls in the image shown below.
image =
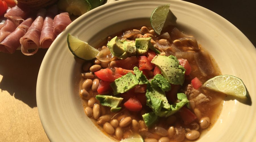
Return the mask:
M 99 53 L 99 51 L 88 43 L 81 41 L 75 36 L 68 34 L 67 36 L 67 43 L 69 46 L 69 50 L 71 53 L 80 59 L 83 60 L 91 60 L 94 59 L 95 56 Z

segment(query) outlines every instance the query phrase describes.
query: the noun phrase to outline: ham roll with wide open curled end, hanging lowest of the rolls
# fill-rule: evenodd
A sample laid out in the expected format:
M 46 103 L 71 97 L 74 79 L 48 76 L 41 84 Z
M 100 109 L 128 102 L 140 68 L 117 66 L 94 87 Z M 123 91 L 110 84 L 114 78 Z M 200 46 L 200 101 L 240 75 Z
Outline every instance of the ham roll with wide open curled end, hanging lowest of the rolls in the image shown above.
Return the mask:
M 28 28 L 28 32 L 20 38 L 21 52 L 24 55 L 34 55 L 38 51 L 40 46 L 40 35 L 44 24 L 44 16 L 46 9 L 40 9 L 37 13 L 37 18 L 32 25 Z M 29 52 L 29 49 L 34 49 L 33 52 Z

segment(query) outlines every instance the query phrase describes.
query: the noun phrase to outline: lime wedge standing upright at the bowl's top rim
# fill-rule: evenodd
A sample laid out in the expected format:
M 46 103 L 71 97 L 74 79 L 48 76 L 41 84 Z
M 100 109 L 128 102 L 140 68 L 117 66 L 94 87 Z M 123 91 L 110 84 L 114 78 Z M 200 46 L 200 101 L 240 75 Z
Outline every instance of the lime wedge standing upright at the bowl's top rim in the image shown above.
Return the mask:
M 150 24 L 156 34 L 160 35 L 165 26 L 176 24 L 176 20 L 176 16 L 170 10 L 170 5 L 166 4 L 154 9 L 150 17 Z

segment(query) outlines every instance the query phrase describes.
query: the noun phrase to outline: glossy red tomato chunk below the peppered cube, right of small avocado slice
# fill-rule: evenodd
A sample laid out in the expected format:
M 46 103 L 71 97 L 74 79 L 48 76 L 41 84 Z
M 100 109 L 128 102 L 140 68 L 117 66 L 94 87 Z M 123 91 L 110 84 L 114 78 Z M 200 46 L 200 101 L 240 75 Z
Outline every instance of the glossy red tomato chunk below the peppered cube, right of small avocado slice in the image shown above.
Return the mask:
M 136 98 L 130 98 L 123 105 L 131 111 L 140 111 L 142 108 L 141 102 Z

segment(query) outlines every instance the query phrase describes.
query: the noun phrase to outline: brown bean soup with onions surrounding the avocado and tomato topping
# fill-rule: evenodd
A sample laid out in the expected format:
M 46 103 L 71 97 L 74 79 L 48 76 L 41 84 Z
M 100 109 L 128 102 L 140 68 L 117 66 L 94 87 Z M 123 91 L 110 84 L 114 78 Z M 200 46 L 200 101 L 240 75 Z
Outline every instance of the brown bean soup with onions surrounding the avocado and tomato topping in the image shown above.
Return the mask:
M 195 89 L 193 84 L 195 78 L 199 80 L 199 83 L 204 83 L 208 79 L 221 74 L 212 56 L 197 43 L 193 36 L 180 32 L 176 27 L 169 26 L 163 31 L 158 36 L 154 33 L 154 30 L 145 26 L 124 30 L 108 37 L 98 45 L 99 51 L 106 50 L 106 53 L 100 57 L 104 61 L 95 59 L 84 62 L 81 75 L 84 81 L 81 82 L 82 90 L 80 97 L 84 102 L 85 113 L 92 120 L 96 121 L 96 125 L 102 127 L 106 134 L 118 141 L 128 138 L 135 133 L 141 135 L 145 142 L 194 141 L 199 139 L 203 131 L 207 131 L 213 126 L 220 114 L 224 95 L 209 91 L 200 86 Z M 101 105 L 95 96 L 98 94 L 112 95 L 112 90 L 111 88 L 106 89 L 106 87 L 110 87 L 110 82 L 102 81 L 94 72 L 105 68 L 109 68 L 113 72 L 116 72 L 117 68 L 132 70 L 134 66 L 138 66 L 138 64 L 132 63 L 139 58 L 138 56 L 130 56 L 123 59 L 126 60 L 123 64 L 116 63 L 117 60 L 121 59 L 110 56 L 107 43 L 115 36 L 126 41 L 151 37 L 151 44 L 160 51 L 158 55 L 174 55 L 180 64 L 183 61 L 189 62 L 191 72 L 186 74 L 189 70 L 187 68 L 183 85 L 171 84 L 171 90 L 165 92 L 169 104 L 179 102 L 177 100 L 177 93 L 185 93 L 189 103 L 173 115 L 158 117 L 158 120 L 150 127 L 146 126 L 142 117 L 143 114 L 152 112 L 152 108 L 146 104 L 145 85 L 137 85 L 132 93 L 128 91 L 119 94 L 118 97 L 122 97 L 123 100 L 119 106 L 121 109 L 117 112 L 111 112 L 110 107 Z M 147 59 L 150 58 L 149 53 L 142 56 L 146 56 Z M 132 64 L 132 68 L 129 67 L 130 64 Z M 148 80 L 151 80 L 155 76 L 155 70 L 154 66 L 151 70 L 143 71 L 143 74 L 146 75 Z M 127 73 L 125 70 L 121 71 Z M 101 89 L 106 91 L 102 93 Z M 141 110 L 131 111 L 124 106 L 124 103 L 133 97 L 140 101 L 142 105 Z M 193 120 L 190 121 L 189 119 Z

